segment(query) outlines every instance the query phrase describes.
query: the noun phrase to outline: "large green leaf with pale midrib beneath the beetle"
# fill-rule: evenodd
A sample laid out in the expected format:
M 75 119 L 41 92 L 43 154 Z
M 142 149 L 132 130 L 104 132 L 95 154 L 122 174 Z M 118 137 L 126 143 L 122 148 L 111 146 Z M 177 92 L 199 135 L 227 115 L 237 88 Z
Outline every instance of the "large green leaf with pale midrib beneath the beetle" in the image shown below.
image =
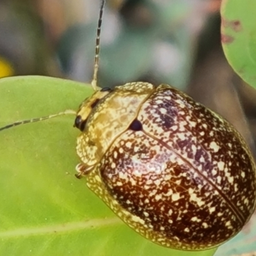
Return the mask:
M 0 79 L 0 127 L 77 109 L 92 88 L 51 77 Z M 182 252 L 144 239 L 74 177 L 74 116 L 0 132 L 0 255 L 172 255 Z

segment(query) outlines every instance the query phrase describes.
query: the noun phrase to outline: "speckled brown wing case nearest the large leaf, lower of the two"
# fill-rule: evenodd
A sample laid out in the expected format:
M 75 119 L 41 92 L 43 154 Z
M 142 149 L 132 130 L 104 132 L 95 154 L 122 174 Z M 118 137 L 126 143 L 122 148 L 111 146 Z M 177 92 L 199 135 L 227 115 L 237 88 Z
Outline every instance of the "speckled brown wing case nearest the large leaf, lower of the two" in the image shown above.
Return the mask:
M 127 141 L 132 147 L 126 146 Z M 145 146 L 141 147 L 140 141 Z M 119 145 L 124 152 L 113 159 L 110 152 L 119 152 Z M 136 147 L 140 148 L 138 152 L 134 151 Z M 113 163 L 115 168 L 111 168 Z M 127 131 L 118 138 L 100 170 L 109 193 L 124 209 L 145 220 L 148 236 L 156 241 L 157 236 L 164 234 L 174 246 L 180 242 L 186 248 L 203 248 L 225 241 L 225 236 L 233 236 L 241 228 L 216 189 L 179 156 L 159 147 L 158 141 L 143 132 Z M 216 210 L 210 212 L 214 207 Z M 218 212 L 221 212 L 219 217 Z M 232 228 L 226 227 L 227 220 Z

